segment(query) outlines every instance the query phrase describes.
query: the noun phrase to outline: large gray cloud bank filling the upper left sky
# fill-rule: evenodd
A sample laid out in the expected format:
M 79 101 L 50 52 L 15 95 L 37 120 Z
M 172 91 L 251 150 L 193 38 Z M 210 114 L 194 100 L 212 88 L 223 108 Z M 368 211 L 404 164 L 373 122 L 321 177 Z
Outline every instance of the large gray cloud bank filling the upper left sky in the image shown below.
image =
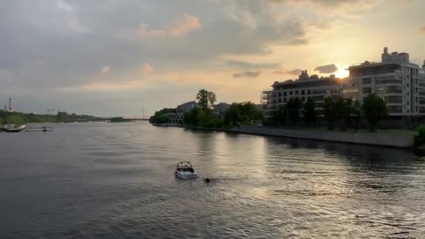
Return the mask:
M 240 4 L 236 15 L 250 8 Z M 150 62 L 160 71 L 208 65 L 221 55 L 267 55 L 271 44 L 307 43 L 301 22 L 276 23 L 257 15 L 256 27 L 251 27 L 230 16 L 225 5 L 215 1 L 5 1 L 0 9 L 0 68 L 16 76 L 15 85 L 66 87 L 93 80 L 103 66 L 122 72 Z M 151 41 L 136 35 L 121 37 L 141 24 L 164 29 L 164 24 L 170 26 L 188 9 L 187 14 L 201 24 L 196 31 Z

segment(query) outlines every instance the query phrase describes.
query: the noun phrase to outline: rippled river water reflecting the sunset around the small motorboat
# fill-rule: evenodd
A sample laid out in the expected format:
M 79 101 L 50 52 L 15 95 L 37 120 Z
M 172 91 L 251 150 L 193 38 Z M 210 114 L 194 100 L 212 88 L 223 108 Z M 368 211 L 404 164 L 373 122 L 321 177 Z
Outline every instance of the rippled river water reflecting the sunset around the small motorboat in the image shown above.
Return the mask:
M 0 238 L 425 237 L 425 159 L 410 151 L 46 125 L 0 133 Z M 174 178 L 183 160 L 200 179 Z

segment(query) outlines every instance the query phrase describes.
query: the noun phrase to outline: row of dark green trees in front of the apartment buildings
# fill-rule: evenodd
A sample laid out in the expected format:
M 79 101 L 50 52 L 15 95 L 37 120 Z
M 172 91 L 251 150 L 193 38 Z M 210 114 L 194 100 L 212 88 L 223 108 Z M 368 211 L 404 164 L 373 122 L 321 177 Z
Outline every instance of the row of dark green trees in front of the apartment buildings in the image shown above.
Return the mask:
M 291 98 L 278 108 L 273 115 L 275 124 L 290 124 L 296 126 L 302 118 L 308 126 L 315 124 L 319 117 L 323 117 L 328 124 L 329 130 L 335 130 L 336 125 L 341 130 L 347 130 L 350 126 L 358 130 L 361 120 L 365 119 L 374 132 L 379 122 L 388 116 L 387 106 L 384 100 L 376 94 L 369 94 L 363 99 L 363 103 L 351 98 L 344 99 L 341 96 L 324 100 L 323 110 L 315 110 L 315 101 L 309 97 L 305 103 L 298 97 Z

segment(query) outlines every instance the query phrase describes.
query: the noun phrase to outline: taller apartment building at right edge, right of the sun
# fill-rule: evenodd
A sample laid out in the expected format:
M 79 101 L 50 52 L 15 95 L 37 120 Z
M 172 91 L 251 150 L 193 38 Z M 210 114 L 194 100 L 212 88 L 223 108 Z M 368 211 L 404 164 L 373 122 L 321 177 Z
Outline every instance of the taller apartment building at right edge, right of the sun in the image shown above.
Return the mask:
M 384 48 L 381 62 L 365 61 L 348 70 L 343 97 L 362 101 L 375 93 L 382 96 L 393 118 L 425 116 L 425 61 L 421 68 L 410 62 L 408 53 L 390 54 Z

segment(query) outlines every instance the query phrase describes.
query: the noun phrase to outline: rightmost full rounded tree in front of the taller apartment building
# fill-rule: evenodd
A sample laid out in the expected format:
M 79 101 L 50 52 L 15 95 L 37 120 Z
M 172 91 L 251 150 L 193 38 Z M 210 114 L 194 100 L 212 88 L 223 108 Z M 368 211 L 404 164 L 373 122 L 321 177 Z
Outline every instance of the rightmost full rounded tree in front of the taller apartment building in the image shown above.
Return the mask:
M 369 94 L 363 99 L 361 111 L 369 123 L 370 132 L 375 132 L 377 124 L 388 115 L 384 100 L 376 94 Z

